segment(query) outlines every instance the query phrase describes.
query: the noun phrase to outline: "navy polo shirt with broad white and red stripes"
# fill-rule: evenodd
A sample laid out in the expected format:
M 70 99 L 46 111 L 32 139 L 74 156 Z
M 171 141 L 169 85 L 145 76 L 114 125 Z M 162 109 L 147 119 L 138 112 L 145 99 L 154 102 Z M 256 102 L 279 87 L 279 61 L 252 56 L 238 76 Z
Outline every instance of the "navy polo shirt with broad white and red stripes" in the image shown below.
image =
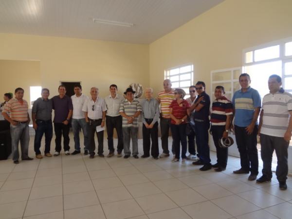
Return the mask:
M 225 126 L 227 115 L 233 114 L 233 106 L 225 96 L 216 99 L 212 103 L 211 120 L 212 126 Z

